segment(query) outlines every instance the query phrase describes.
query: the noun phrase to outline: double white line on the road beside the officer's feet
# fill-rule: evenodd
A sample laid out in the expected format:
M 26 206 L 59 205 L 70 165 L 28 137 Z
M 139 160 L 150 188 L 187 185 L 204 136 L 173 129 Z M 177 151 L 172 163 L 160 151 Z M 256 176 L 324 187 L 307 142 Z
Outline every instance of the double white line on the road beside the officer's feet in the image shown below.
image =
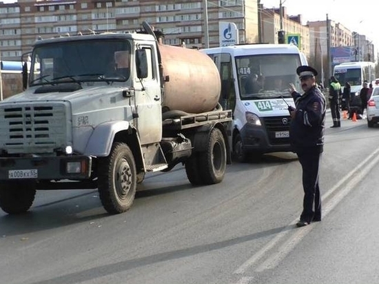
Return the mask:
M 370 170 L 378 163 L 379 161 L 379 148 L 376 149 L 374 152 L 372 152 L 367 158 L 362 161 L 359 165 L 354 168 L 354 170 L 351 170 L 349 174 L 345 175 L 343 179 L 341 179 L 334 187 L 331 188 L 328 192 L 325 192 L 325 194 L 322 195 L 322 201 L 327 199 L 327 197 L 331 196 L 336 190 L 340 189 L 340 191 L 333 196 L 327 203 L 323 206 L 322 209 L 322 216 L 325 217 L 331 210 L 333 210 L 342 199 L 353 190 L 362 179 L 369 174 Z M 343 185 L 343 187 L 342 187 Z M 292 221 L 287 227 L 283 228 L 283 231 L 278 233 L 274 239 L 269 241 L 267 245 L 262 247 L 256 254 L 254 254 L 251 258 L 249 258 L 243 265 L 240 265 L 237 270 L 235 270 L 233 273 L 234 274 L 244 274 L 246 270 L 248 270 L 250 267 L 253 267 L 254 265 L 257 265 L 256 268 L 254 269 L 255 272 L 262 272 L 267 269 L 272 269 L 276 266 L 279 265 L 280 261 L 291 252 L 291 250 L 294 250 L 294 247 L 300 241 L 303 240 L 305 236 L 312 230 L 314 225 L 309 225 L 307 227 L 302 227 L 299 228 L 298 230 L 288 230 L 289 227 L 293 227 L 298 219 Z M 258 263 L 263 256 L 265 256 L 269 250 L 272 250 L 273 247 L 278 245 L 280 242 L 283 242 L 285 236 L 287 234 L 291 233 L 291 236 L 287 241 L 283 243 L 283 245 L 280 245 L 275 252 L 272 254 L 269 254 L 269 256 L 263 261 L 262 263 Z M 248 277 L 242 277 L 240 280 L 242 281 L 243 278 L 248 278 Z M 249 281 L 252 280 L 252 277 L 250 277 Z M 245 280 L 246 281 L 246 280 Z M 247 282 L 249 283 L 249 282 Z

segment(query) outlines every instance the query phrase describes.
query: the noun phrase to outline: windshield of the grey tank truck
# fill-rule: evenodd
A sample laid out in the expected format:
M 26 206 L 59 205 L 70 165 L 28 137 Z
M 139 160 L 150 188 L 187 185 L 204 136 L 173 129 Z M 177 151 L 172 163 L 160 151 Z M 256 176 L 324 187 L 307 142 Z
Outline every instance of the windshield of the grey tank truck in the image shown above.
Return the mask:
M 29 85 L 127 81 L 130 43 L 91 39 L 46 43 L 34 48 Z

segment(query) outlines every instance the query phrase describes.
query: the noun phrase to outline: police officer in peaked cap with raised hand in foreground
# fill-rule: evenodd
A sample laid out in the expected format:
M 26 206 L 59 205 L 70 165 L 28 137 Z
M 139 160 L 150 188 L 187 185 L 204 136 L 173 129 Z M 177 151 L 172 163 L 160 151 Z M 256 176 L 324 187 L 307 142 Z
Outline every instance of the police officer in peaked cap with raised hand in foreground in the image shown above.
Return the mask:
M 289 84 L 289 92 L 296 105 L 296 108 L 289 107 L 289 139 L 303 168 L 303 212 L 296 223 L 298 227 L 303 227 L 312 221 L 321 221 L 318 172 L 324 144 L 326 105 L 325 97 L 316 85 L 317 71 L 310 66 L 299 66 L 296 73 L 304 94 L 299 94 L 294 84 Z

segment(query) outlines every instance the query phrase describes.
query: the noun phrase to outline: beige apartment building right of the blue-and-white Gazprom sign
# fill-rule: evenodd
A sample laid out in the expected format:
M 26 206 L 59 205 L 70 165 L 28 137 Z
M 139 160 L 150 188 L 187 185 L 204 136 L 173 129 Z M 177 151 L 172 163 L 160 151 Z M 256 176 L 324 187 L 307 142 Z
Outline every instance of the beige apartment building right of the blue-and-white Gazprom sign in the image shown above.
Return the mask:
M 262 21 L 261 33 L 262 42 L 278 43 L 278 31 L 283 29 L 285 34 L 291 38 L 291 35 L 298 39 L 297 45 L 309 57 L 309 28 L 302 24 L 302 16 L 289 16 L 287 8 L 282 7 L 282 15 L 280 17 L 280 9 L 278 8 L 262 8 L 260 9 L 260 19 Z

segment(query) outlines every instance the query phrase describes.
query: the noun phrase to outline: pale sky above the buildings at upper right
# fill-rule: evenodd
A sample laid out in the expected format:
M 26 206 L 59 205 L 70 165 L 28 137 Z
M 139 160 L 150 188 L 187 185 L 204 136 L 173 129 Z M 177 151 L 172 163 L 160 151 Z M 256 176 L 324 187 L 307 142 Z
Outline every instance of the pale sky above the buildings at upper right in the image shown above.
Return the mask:
M 247 0 L 249 1 L 249 0 Z M 260 0 L 264 8 L 278 8 L 280 0 Z M 331 21 L 341 23 L 351 32 L 365 34 L 379 48 L 379 1 L 378 0 L 282 0 L 288 15 L 301 14 L 307 21 Z

